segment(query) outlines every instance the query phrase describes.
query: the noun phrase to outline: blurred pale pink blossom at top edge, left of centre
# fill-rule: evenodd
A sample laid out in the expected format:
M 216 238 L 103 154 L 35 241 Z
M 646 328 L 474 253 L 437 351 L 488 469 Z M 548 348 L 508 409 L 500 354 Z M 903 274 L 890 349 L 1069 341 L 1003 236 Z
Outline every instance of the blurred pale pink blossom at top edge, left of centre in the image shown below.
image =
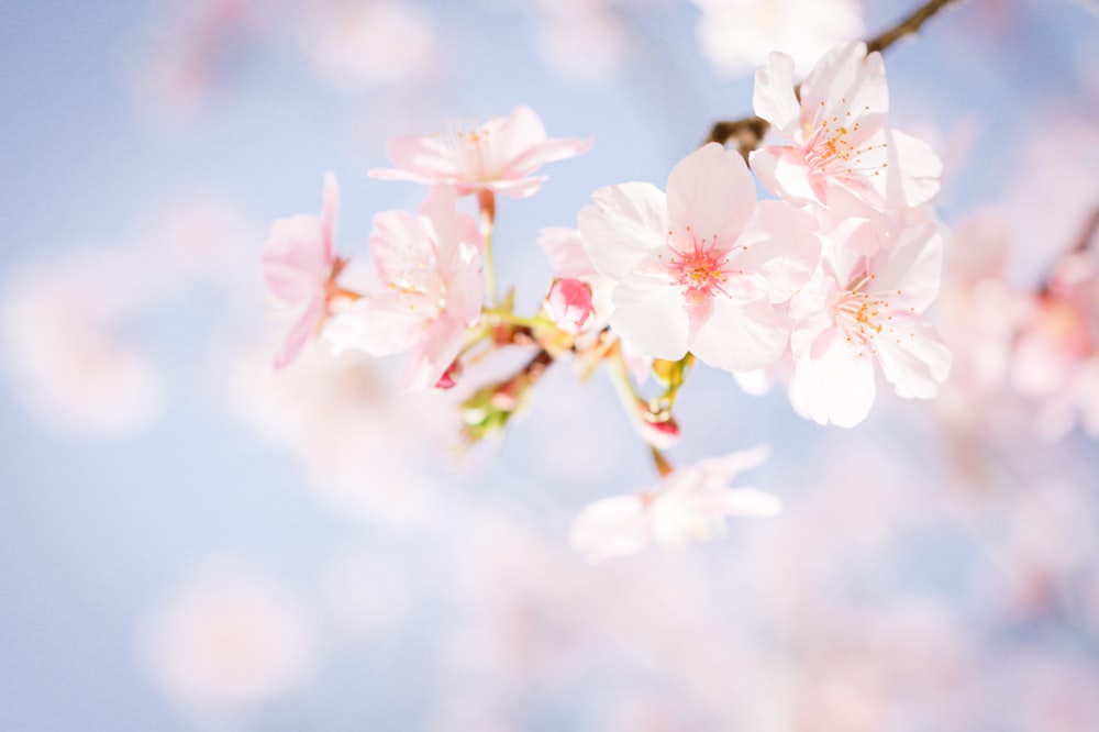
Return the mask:
M 347 93 L 407 82 L 428 70 L 434 18 L 408 0 L 309 3 L 301 45 L 321 78 Z

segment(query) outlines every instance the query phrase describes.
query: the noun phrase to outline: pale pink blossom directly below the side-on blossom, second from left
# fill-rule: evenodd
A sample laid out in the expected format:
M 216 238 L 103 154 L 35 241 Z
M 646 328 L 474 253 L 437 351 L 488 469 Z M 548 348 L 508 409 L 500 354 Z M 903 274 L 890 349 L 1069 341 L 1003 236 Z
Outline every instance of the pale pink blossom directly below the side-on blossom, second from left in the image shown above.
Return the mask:
M 453 189 L 436 188 L 415 217 L 374 217 L 370 251 L 382 290 L 333 318 L 325 337 L 340 351 L 375 356 L 411 350 L 404 389 L 440 382 L 462 350 L 466 326 L 480 315 L 484 240 L 476 222 L 455 210 Z

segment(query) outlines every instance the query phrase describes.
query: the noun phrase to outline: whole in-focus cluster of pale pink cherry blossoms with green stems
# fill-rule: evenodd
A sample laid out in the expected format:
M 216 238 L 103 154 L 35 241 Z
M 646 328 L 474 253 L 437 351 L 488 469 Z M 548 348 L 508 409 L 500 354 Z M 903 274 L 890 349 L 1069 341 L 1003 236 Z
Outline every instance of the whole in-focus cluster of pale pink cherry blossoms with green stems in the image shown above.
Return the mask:
M 861 43 L 830 51 L 800 99 L 792 59 L 773 54 L 756 75 L 754 103 L 776 144 L 748 164 L 777 200 L 757 200 L 745 159 L 718 143 L 680 160 L 664 191 L 647 182 L 601 188 L 577 229 L 545 230 L 556 278 L 532 317 L 496 292 L 496 199 L 534 195 L 542 164 L 590 142 L 548 138 L 526 108 L 473 131 L 392 140 L 396 167 L 371 175 L 430 193 L 415 215 L 374 218 L 373 271 L 351 271 L 334 253 L 331 177 L 320 218 L 276 222 L 267 284 L 303 311 L 276 366 L 321 334 L 335 351 L 409 352 L 406 389 L 447 389 L 486 353 L 530 347 L 525 366 L 463 402 L 475 441 L 501 429 L 559 357 L 571 355 L 581 373 L 607 365 L 662 480 L 589 507 L 573 528 L 578 548 L 626 554 L 653 540 L 709 536 L 725 515 L 776 513 L 777 499 L 728 488 L 761 451 L 671 468 L 662 451 L 679 437 L 678 390 L 696 359 L 744 385 L 777 377 L 800 414 L 843 426 L 869 412 L 877 370 L 901 397 L 934 396 L 951 363 L 923 315 L 941 279 L 943 237 L 929 204 L 941 164 L 929 146 L 885 126 L 881 58 Z M 458 211 L 465 196 L 475 197 L 478 219 Z M 639 384 L 650 374 L 664 390 L 646 399 Z

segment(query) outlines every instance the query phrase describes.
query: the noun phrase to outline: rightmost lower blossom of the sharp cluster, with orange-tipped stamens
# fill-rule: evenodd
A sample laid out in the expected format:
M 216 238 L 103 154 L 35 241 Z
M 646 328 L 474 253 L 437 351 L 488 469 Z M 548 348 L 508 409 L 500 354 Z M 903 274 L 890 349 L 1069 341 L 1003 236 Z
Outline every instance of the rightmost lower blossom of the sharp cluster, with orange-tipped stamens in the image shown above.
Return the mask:
M 820 424 L 853 426 L 870 410 L 877 363 L 897 393 L 929 399 L 951 353 L 921 314 L 939 293 L 943 242 L 925 223 L 867 257 L 828 247 L 821 269 L 790 301 L 790 402 Z

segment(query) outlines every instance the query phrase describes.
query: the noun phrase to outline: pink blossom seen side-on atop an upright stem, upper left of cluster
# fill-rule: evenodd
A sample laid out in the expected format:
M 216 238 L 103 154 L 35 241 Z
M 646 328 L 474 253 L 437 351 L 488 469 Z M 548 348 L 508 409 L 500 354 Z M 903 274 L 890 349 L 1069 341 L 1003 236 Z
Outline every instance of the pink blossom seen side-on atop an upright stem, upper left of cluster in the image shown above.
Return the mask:
M 459 196 L 489 190 L 528 198 L 546 179 L 531 177 L 532 173 L 544 163 L 579 155 L 590 146 L 590 138 L 546 137 L 537 114 L 529 107 L 517 107 L 509 117 L 493 118 L 468 132 L 392 137 L 389 157 L 397 167 L 370 170 L 370 176 L 453 186 Z

